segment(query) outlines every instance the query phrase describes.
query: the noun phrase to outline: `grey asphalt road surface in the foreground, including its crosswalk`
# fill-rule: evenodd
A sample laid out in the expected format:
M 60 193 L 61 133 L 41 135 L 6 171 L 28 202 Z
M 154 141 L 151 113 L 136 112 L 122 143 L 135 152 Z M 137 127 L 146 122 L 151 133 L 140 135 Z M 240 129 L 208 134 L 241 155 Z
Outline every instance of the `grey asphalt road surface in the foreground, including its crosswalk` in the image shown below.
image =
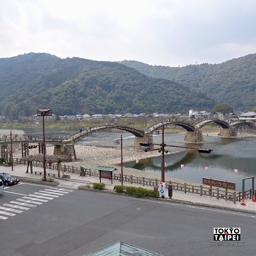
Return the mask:
M 34 184 L 5 191 L 0 256 L 82 256 L 119 240 L 164 256 L 256 254 L 256 216 Z M 211 246 L 222 227 L 241 228 L 244 246 Z

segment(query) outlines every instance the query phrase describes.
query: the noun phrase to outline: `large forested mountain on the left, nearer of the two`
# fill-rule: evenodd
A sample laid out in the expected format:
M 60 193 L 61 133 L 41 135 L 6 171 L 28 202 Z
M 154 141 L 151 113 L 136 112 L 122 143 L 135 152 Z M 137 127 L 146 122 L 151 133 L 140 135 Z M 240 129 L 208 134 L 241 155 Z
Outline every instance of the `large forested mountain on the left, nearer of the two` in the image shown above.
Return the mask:
M 0 90 L 1 114 L 12 118 L 36 114 L 38 108 L 70 115 L 176 113 L 214 105 L 205 94 L 116 62 L 45 53 L 0 58 Z

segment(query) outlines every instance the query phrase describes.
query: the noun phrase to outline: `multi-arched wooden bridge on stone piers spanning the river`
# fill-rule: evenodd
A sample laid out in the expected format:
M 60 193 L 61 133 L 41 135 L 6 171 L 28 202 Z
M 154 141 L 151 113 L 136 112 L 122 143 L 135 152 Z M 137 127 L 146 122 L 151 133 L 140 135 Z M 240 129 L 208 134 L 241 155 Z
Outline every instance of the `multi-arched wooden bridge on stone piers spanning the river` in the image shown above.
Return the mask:
M 90 136 L 92 133 L 100 132 L 104 130 L 112 130 L 112 129 L 118 129 L 118 130 L 124 130 L 126 132 L 130 132 L 134 134 L 135 136 L 135 142 L 134 147 L 135 148 L 141 148 L 139 143 L 140 142 L 149 142 L 152 143 L 152 133 L 155 130 L 158 130 L 162 127 L 164 124 L 167 125 L 177 125 L 185 129 L 185 138 L 184 141 L 186 142 L 203 142 L 202 137 L 202 130 L 201 128 L 209 124 L 211 122 L 214 122 L 221 126 L 220 128 L 220 136 L 223 137 L 235 137 L 237 136 L 236 130 L 242 125 L 252 125 L 251 122 L 245 121 L 245 122 L 234 122 L 231 124 L 228 124 L 227 122 L 219 119 L 212 119 L 212 120 L 203 120 L 200 122 L 197 122 L 195 124 L 189 124 L 186 122 L 181 122 L 177 120 L 165 120 L 156 122 L 154 124 L 151 124 L 150 126 L 147 126 L 144 129 L 136 128 L 134 126 L 128 126 L 128 125 L 122 125 L 122 124 L 105 124 L 105 125 L 98 125 L 98 126 L 90 126 L 87 128 L 83 128 L 82 131 L 76 131 L 72 134 L 69 134 L 68 136 L 61 138 L 61 137 L 46 137 L 45 143 L 46 144 L 52 144 L 54 145 L 54 154 L 69 154 L 71 156 L 75 156 L 75 150 L 74 150 L 74 144 L 79 142 L 82 138 L 85 138 L 86 136 Z M 9 138 L 0 138 L 0 145 L 1 145 L 1 155 L 4 156 L 6 153 L 5 149 L 7 148 L 7 145 L 10 144 L 11 140 Z M 38 143 L 39 147 L 39 153 L 43 153 L 43 138 L 42 137 L 15 137 L 12 138 L 13 144 L 22 144 L 22 156 L 26 156 L 28 154 L 28 144 L 36 144 Z

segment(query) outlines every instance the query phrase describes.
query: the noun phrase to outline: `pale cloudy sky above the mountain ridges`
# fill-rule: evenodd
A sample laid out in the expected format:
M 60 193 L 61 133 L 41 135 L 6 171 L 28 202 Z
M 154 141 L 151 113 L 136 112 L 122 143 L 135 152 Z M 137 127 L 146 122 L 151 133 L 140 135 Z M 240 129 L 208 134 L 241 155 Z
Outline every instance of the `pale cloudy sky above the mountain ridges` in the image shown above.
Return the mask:
M 256 53 L 255 0 L 0 0 L 0 58 L 218 64 Z

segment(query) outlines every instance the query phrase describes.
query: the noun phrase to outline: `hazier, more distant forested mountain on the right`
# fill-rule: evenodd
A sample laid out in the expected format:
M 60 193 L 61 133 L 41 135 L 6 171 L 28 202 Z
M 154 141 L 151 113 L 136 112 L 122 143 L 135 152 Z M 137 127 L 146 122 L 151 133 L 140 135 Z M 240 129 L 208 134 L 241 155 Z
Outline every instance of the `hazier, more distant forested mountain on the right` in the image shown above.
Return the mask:
M 165 78 L 206 93 L 216 103 L 227 103 L 236 110 L 256 106 L 256 54 L 221 64 L 188 65 L 181 68 L 150 66 L 142 62 L 119 62 L 152 78 Z

